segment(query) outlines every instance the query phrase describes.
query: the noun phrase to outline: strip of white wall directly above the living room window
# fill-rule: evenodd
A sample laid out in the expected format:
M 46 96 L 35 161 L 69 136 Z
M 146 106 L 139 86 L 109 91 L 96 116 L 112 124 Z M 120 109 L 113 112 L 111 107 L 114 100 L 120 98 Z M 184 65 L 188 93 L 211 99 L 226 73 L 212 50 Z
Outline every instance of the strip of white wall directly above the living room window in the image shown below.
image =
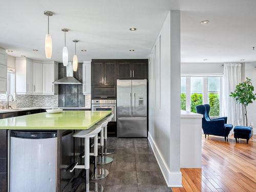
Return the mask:
M 181 74 L 223 74 L 224 67 L 220 62 L 183 62 L 181 63 Z

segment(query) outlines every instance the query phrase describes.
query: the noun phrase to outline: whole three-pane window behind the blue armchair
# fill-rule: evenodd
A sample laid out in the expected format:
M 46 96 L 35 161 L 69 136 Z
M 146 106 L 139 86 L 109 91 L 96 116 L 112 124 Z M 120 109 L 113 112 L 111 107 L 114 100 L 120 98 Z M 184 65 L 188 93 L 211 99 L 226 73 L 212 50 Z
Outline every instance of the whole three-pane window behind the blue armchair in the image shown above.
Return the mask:
M 220 87 L 222 77 L 181 77 L 181 110 L 196 113 L 196 106 L 208 103 L 210 116 L 220 116 Z

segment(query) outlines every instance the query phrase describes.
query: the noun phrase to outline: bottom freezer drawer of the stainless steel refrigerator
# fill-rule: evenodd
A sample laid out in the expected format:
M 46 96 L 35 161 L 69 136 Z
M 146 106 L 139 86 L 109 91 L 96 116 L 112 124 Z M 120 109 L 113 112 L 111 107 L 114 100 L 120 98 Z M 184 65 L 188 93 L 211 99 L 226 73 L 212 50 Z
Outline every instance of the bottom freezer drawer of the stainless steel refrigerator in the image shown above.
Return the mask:
M 118 117 L 117 137 L 147 137 L 147 117 Z

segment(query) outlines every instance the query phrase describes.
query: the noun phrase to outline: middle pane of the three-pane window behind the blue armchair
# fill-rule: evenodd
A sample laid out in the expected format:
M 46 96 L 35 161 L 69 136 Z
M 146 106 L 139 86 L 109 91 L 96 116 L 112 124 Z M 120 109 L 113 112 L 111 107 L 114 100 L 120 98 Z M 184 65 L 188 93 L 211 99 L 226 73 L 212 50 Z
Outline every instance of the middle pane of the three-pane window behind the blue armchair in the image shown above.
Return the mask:
M 197 113 L 196 106 L 203 104 L 203 77 L 190 77 L 190 111 Z

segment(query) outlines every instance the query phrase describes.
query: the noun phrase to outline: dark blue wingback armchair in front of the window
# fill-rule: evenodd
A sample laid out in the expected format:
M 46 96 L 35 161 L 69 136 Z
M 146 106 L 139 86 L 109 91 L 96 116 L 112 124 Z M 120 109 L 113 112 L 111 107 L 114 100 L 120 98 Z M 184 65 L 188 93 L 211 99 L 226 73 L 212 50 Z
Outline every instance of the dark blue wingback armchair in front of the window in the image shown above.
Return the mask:
M 225 142 L 228 138 L 229 132 L 232 130 L 232 124 L 226 124 L 226 120 L 224 118 L 218 119 L 210 119 L 206 106 L 205 105 L 198 105 L 197 113 L 202 114 L 202 129 L 206 135 L 215 135 L 215 136 L 222 136 L 225 138 Z

